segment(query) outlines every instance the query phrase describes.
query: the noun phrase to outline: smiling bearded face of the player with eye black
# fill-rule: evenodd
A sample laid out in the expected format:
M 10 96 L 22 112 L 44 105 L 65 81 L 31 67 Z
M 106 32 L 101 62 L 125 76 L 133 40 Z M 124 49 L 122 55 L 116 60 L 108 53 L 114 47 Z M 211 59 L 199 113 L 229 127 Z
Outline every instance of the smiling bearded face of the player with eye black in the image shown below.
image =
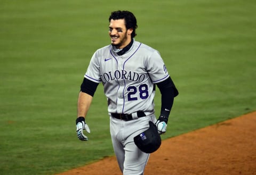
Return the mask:
M 131 42 L 132 29 L 126 29 L 124 19 L 113 20 L 109 23 L 111 45 L 124 48 Z

